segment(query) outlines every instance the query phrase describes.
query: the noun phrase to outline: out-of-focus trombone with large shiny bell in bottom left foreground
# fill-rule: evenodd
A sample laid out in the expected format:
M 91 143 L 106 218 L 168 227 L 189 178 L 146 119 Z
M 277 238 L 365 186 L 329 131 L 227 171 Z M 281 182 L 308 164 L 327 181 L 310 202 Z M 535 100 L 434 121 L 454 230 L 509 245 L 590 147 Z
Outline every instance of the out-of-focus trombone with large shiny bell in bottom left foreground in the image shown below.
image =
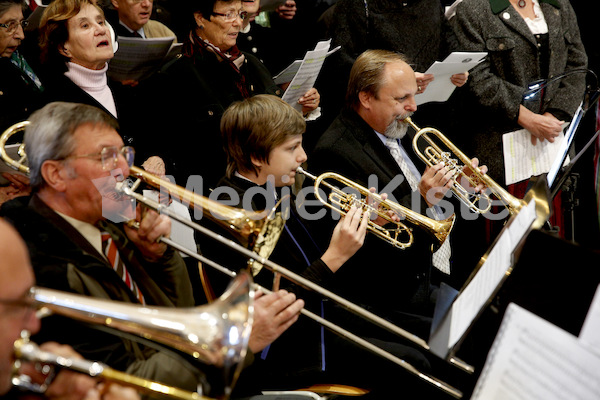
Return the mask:
M 106 326 L 162 343 L 205 364 L 214 365 L 223 371 L 226 385 L 224 394 L 228 397 L 243 366 L 252 328 L 254 292 L 251 285 L 252 279 L 248 274 L 238 274 L 221 297 L 208 305 L 193 308 L 140 306 L 40 287 L 31 289 L 29 300 L 39 310 L 40 317 L 56 314 Z M 19 342 L 16 346 L 19 345 L 24 343 Z M 29 359 L 23 355 L 26 350 L 33 351 L 27 346 L 19 348 L 17 358 Z M 114 370 L 105 369 L 107 375 L 100 375 L 99 369 L 94 366 L 93 376 L 99 375 L 141 391 L 160 385 Z M 83 369 L 81 372 L 89 370 Z M 179 389 L 164 385 L 158 388 L 166 394 L 174 392 L 184 395 L 176 398 L 201 398 L 193 394 L 188 397 L 188 394 L 178 392 Z

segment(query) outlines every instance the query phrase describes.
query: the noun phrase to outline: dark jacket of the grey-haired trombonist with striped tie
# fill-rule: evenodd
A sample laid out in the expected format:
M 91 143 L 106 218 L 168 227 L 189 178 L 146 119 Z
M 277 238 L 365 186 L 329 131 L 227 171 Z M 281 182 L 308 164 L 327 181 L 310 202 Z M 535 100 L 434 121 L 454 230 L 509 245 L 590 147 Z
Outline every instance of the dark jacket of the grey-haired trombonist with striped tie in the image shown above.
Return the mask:
M 37 196 L 22 197 L 2 205 L 5 217 L 21 234 L 29 249 L 37 285 L 107 300 L 136 302 L 135 296 L 106 259 L 66 220 Z M 187 269 L 172 250 L 157 263 L 143 260 L 139 251 L 114 224 L 106 223 L 119 253 L 149 305 L 191 307 L 194 305 Z M 175 373 L 176 363 L 155 358 L 154 349 L 87 327 L 63 317 L 43 320 L 37 341 L 70 344 L 91 360 L 99 360 L 121 371 L 183 385 Z M 166 374 L 166 375 L 165 375 Z M 179 371 L 179 377 L 187 376 Z

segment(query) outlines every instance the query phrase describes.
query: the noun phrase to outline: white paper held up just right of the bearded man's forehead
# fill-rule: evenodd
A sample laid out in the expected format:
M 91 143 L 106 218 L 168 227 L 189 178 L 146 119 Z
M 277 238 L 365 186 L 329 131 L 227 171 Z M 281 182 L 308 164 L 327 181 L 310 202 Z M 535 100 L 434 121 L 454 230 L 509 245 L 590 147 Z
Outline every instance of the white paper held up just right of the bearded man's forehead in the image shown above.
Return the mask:
M 446 101 L 456 89 L 456 86 L 450 81 L 454 74 L 461 74 L 469 71 L 479 64 L 487 55 L 485 52 L 454 52 L 442 62 L 436 61 L 425 71 L 426 74 L 433 74 L 435 79 L 427 86 L 425 92 L 417 94 L 415 101 L 417 105 L 429 103 L 431 101 Z

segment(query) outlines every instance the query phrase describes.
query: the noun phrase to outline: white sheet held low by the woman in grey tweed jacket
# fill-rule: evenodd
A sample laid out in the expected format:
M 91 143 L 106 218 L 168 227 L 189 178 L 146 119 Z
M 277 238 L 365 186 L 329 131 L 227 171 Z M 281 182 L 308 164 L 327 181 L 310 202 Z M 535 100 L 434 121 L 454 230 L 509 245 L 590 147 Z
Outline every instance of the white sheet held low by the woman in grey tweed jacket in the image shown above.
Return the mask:
M 538 140 L 534 146 L 531 144 L 531 133 L 526 129 L 502 135 L 506 184 L 511 185 L 548 172 L 556 155 L 559 154 L 564 137 L 564 133 L 561 133 L 554 143 Z M 567 157 L 565 162 L 568 163 L 568 161 Z

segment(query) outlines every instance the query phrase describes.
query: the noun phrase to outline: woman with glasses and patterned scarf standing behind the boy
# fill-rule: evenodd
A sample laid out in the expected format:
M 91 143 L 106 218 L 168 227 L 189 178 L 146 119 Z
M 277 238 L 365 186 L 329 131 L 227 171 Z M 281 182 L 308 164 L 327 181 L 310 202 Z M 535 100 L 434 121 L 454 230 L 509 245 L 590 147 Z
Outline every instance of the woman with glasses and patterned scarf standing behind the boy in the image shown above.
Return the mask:
M 225 109 L 256 94 L 281 96 L 283 90 L 256 57 L 237 47 L 247 17 L 241 0 L 190 3 L 192 28 L 183 57 L 163 69 L 170 90 L 162 97 L 175 109 L 165 128 L 169 140 L 161 141 L 160 147 L 167 158 L 167 173 L 174 174 L 178 183 L 185 185 L 190 175 L 200 175 L 203 188 L 208 189 L 225 174 L 219 128 Z M 310 89 L 298 103 L 307 115 L 318 108 L 319 94 Z M 165 138 L 164 132 L 160 138 Z

